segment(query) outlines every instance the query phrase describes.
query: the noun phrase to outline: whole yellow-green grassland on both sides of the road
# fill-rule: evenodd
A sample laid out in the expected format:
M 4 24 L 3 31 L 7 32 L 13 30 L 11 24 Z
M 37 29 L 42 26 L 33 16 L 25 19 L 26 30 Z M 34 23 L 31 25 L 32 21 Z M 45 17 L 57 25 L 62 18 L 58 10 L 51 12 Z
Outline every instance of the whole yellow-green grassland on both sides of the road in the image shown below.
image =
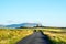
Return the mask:
M 20 40 L 42 30 L 52 41 L 51 44 L 66 44 L 66 29 L 0 29 L 0 44 L 15 44 Z

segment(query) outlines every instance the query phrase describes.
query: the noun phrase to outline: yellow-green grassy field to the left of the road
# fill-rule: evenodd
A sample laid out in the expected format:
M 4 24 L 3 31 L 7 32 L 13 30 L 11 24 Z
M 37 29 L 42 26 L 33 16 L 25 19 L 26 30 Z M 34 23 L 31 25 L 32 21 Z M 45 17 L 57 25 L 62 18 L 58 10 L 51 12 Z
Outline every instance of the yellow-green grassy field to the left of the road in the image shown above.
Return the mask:
M 0 44 L 15 44 L 32 33 L 33 31 L 28 29 L 0 29 Z

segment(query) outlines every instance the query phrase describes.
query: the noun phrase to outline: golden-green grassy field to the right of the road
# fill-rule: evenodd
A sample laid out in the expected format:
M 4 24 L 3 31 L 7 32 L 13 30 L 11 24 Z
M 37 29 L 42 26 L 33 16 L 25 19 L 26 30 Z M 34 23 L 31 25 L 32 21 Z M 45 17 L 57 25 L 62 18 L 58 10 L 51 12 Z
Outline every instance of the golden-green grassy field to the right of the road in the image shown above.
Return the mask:
M 50 36 L 52 44 L 66 44 L 66 29 L 44 29 L 43 32 Z

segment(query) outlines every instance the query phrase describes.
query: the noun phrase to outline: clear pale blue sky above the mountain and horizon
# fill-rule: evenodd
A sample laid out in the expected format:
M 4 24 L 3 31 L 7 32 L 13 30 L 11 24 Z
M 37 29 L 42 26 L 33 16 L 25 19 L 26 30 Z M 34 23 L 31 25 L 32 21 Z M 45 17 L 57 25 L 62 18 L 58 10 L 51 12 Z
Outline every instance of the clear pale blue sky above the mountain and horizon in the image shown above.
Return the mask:
M 66 0 L 0 0 L 0 24 L 66 26 Z

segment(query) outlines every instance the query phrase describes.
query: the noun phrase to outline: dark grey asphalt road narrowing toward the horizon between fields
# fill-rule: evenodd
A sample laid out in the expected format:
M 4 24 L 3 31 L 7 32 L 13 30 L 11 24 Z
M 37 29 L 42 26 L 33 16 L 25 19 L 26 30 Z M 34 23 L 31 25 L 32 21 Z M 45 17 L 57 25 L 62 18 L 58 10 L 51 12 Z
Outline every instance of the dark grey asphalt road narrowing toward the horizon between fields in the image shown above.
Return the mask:
M 34 32 L 32 35 L 19 41 L 16 44 L 50 44 L 50 41 L 43 32 Z

